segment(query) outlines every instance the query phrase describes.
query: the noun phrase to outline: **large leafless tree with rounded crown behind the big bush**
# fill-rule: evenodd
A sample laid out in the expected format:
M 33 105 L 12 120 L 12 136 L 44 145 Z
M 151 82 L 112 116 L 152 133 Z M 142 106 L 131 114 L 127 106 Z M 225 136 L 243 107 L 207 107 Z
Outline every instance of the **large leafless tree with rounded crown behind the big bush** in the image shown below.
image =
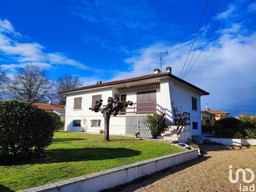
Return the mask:
M 16 72 L 6 88 L 13 99 L 29 102 L 46 100 L 52 85 L 53 82 L 44 68 L 28 64 Z

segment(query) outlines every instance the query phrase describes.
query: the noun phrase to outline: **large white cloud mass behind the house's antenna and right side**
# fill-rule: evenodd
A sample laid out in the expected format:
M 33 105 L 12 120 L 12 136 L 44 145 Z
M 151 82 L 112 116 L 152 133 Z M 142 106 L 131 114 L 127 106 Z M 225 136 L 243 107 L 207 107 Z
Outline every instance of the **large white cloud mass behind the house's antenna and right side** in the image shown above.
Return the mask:
M 218 33 L 220 36 L 207 45 L 207 49 L 202 52 L 184 78 L 185 81 L 210 93 L 209 96 L 202 97 L 202 106 L 207 102 L 210 103 L 210 108 L 225 110 L 237 107 L 241 109 L 243 106 L 248 108 L 252 102 L 256 102 L 256 33 L 247 35 L 243 30 L 239 24 L 221 29 Z M 131 70 L 116 73 L 119 75 L 115 79 L 152 74 L 154 68 L 160 68 L 160 61 L 157 60 L 159 55 L 154 55 L 152 52 L 163 52 L 164 49 L 168 49 L 168 56 L 162 57 L 162 71 L 164 72 L 165 67 L 170 66 L 172 74 L 179 77 L 190 46 L 191 42 L 176 45 L 158 42 L 140 49 L 138 56 L 125 60 L 131 65 Z M 198 54 L 200 51 L 195 52 L 195 58 Z M 188 70 L 195 58 L 191 61 Z

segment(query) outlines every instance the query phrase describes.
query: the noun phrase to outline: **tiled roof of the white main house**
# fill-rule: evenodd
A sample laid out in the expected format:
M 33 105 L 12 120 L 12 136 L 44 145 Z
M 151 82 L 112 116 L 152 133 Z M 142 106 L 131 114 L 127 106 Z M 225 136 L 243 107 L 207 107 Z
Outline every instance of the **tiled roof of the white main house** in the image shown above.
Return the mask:
M 158 74 L 148 74 L 146 76 L 140 76 L 140 77 L 133 77 L 133 78 L 129 78 L 129 79 L 121 79 L 121 80 L 117 80 L 117 81 L 109 81 L 106 83 L 100 83 L 100 84 L 93 84 L 90 86 L 83 86 L 80 88 L 74 88 L 72 90 L 63 90 L 60 91 L 58 93 L 60 94 L 64 94 L 64 93 L 68 93 L 68 92 L 76 92 L 76 91 L 80 91 L 80 90 L 87 90 L 90 88 L 97 88 L 97 87 L 101 87 L 101 86 L 108 86 L 108 85 L 113 85 L 113 84 L 121 84 L 121 83 L 128 83 L 128 82 L 132 82 L 132 81 L 140 81 L 140 80 L 145 80 L 145 79 L 151 79 L 151 78 L 155 78 L 155 77 L 170 77 L 172 79 L 175 79 L 177 81 L 179 81 L 180 83 L 184 83 L 187 84 L 188 86 L 191 86 L 193 88 L 195 88 L 196 90 L 199 90 L 200 92 L 204 93 L 205 95 L 209 95 L 210 93 L 205 92 L 204 90 L 198 88 L 197 86 L 188 83 L 187 81 L 184 81 L 182 79 L 180 79 L 179 77 L 173 76 L 172 74 L 170 74 L 170 72 L 163 72 L 163 73 L 158 73 Z

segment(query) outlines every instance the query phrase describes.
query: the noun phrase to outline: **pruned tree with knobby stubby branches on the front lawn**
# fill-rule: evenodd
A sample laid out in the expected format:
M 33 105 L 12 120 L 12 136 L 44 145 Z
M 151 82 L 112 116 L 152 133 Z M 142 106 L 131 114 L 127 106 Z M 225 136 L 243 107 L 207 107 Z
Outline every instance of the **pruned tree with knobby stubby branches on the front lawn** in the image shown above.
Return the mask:
M 104 117 L 104 141 L 110 141 L 109 140 L 109 120 L 110 115 L 116 116 L 118 111 L 121 111 L 124 108 L 127 108 L 127 106 L 132 106 L 132 101 L 128 100 L 127 102 L 118 102 L 118 100 L 114 100 L 113 97 L 108 98 L 108 104 L 106 108 L 100 108 L 102 106 L 102 99 L 96 100 L 95 105 L 93 108 L 89 108 L 90 110 L 94 111 L 95 113 L 101 112 Z M 118 102 L 117 106 L 113 108 L 113 103 Z

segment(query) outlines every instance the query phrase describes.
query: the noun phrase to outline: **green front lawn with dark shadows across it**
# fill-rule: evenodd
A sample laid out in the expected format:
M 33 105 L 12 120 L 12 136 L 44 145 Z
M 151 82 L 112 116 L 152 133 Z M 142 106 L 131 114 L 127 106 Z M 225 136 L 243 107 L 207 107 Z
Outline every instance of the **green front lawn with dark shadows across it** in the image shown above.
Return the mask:
M 45 157 L 27 164 L 0 166 L 0 191 L 18 191 L 43 184 L 108 170 L 125 164 L 180 152 L 164 142 L 122 136 L 55 132 Z

